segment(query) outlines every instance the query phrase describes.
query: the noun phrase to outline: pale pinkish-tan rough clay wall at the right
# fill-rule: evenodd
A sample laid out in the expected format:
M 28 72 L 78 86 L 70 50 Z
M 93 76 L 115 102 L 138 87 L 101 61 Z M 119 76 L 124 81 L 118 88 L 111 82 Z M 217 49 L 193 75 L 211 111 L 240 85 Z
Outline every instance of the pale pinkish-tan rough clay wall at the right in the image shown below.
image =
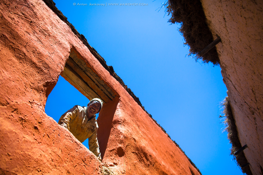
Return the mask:
M 201 0 L 252 174 L 263 167 L 263 2 Z

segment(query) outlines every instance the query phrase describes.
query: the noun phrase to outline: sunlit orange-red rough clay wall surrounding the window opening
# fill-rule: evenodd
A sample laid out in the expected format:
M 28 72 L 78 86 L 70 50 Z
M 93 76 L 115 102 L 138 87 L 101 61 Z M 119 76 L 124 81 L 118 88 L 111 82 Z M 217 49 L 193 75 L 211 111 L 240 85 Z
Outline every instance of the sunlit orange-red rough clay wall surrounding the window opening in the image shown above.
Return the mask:
M 1 1 L 0 26 L 0 174 L 200 174 L 43 1 Z M 72 49 L 117 95 L 98 118 L 107 169 L 44 112 Z

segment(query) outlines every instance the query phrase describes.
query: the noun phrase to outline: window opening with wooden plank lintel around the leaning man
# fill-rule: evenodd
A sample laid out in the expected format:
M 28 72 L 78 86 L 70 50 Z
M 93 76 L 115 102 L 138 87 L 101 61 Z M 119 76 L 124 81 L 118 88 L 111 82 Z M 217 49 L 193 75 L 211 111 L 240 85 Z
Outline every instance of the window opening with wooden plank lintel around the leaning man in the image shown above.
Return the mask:
M 98 119 L 99 125 L 97 131 L 99 149 L 103 158 L 109 140 L 111 123 L 119 101 L 119 98 L 115 97 L 118 96 L 72 49 L 57 84 L 48 95 L 45 112 L 58 122 L 61 115 L 73 106 L 87 106 L 91 99 L 101 99 L 103 108 L 100 114 L 96 114 L 96 119 Z M 89 148 L 88 139 L 82 144 Z

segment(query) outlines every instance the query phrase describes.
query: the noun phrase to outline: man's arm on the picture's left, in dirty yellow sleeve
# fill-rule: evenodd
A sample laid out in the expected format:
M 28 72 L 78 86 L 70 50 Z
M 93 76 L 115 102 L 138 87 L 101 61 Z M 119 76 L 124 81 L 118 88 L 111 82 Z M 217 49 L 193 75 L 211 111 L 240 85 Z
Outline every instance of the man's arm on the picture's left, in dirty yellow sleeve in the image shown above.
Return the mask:
M 64 126 L 69 130 L 69 122 L 77 116 L 77 112 L 78 112 L 78 105 L 75 105 L 73 108 L 65 112 L 65 114 L 63 114 L 60 117 L 58 124 Z

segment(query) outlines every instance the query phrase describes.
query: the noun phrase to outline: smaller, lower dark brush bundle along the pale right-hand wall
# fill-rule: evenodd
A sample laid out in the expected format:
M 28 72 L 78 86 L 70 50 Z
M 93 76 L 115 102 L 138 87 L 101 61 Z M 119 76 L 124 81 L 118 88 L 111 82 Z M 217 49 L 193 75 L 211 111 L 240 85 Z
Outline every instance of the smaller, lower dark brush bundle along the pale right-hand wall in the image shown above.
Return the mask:
M 238 165 L 241 167 L 242 165 L 245 165 L 247 163 L 247 159 L 246 159 L 243 151 L 241 151 L 237 155 L 234 154 L 242 146 L 241 146 L 241 143 L 239 141 L 236 123 L 235 123 L 235 119 L 234 119 L 234 116 L 232 113 L 232 109 L 231 109 L 231 105 L 230 105 L 228 97 L 225 98 L 222 105 L 224 106 L 223 113 L 225 114 L 225 121 L 224 121 L 224 123 L 226 125 L 225 131 L 228 132 L 227 137 L 228 137 L 228 140 L 230 141 L 230 143 L 232 144 L 231 155 L 234 156 Z M 252 172 L 251 172 L 249 166 L 243 167 L 242 171 L 243 171 L 243 173 L 246 173 L 247 175 L 252 175 Z

